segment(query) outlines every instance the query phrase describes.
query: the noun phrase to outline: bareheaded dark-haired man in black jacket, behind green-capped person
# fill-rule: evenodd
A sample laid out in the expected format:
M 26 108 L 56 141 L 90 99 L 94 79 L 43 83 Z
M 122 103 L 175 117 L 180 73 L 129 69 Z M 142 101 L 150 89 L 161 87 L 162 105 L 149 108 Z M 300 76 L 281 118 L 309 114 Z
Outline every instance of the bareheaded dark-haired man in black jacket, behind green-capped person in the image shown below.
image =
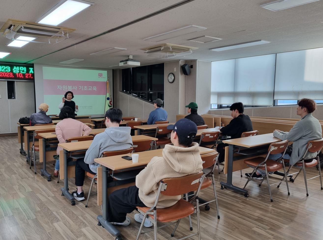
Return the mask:
M 231 136 L 231 139 L 240 138 L 243 132 L 253 131 L 252 122 L 248 115 L 244 115 L 243 103 L 238 102 L 230 106 L 231 116 L 233 119 L 228 125 L 220 129 L 223 135 Z M 224 147 L 227 144 L 220 143 L 216 147 L 216 151 L 219 153 L 219 162 L 224 162 Z

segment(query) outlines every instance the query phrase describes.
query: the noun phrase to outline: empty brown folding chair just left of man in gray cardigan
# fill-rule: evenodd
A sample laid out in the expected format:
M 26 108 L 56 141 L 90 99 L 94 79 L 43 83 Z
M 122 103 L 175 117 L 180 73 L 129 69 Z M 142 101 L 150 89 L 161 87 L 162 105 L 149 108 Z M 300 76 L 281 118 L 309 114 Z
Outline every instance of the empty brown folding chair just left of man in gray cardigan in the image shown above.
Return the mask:
M 271 202 L 273 201 L 273 198 L 271 196 L 270 186 L 274 185 L 274 184 L 277 184 L 277 183 L 284 182 L 284 178 L 285 178 L 285 182 L 286 182 L 286 186 L 287 186 L 288 195 L 290 195 L 289 188 L 288 188 L 288 182 L 287 182 L 287 178 L 286 178 L 285 163 L 284 163 L 284 159 L 283 159 L 283 156 L 284 156 L 284 154 L 286 152 L 288 143 L 289 143 L 288 140 L 278 142 L 278 143 L 272 143 L 272 144 L 269 145 L 268 153 L 267 153 L 266 157 L 256 157 L 256 158 L 252 158 L 252 159 L 248 159 L 248 160 L 244 161 L 244 163 L 246 165 L 248 165 L 249 167 L 254 168 L 254 170 L 250 174 L 250 177 L 248 178 L 247 182 L 245 183 L 245 186 L 244 186 L 243 189 L 245 189 L 245 187 L 249 183 L 249 181 L 255 180 L 255 179 L 251 179 L 251 177 L 255 173 L 255 171 L 259 168 L 259 169 L 262 169 L 262 170 L 266 171 L 266 176 L 263 178 L 263 180 L 261 181 L 259 186 L 261 186 L 261 184 L 263 183 L 265 178 L 267 178 L 267 183 L 268 183 L 268 189 L 269 189 L 269 195 L 270 195 L 270 201 Z M 283 154 L 279 159 L 277 159 L 276 161 L 269 159 L 270 154 L 278 154 L 278 153 Z M 275 171 L 278 171 L 278 170 L 280 170 L 282 168 L 284 169 L 285 177 L 279 182 L 270 184 L 269 183 L 269 177 L 268 177 L 268 171 L 269 172 L 275 172 Z

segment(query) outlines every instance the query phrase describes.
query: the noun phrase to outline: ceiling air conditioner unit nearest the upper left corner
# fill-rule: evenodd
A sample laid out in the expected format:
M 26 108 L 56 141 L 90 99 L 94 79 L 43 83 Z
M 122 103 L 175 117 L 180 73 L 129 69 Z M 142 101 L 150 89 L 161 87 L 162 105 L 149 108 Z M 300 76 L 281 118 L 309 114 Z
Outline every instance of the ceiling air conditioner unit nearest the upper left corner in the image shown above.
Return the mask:
M 68 37 L 68 34 L 74 32 L 76 29 L 61 27 L 61 26 L 48 26 L 44 24 L 32 23 L 27 21 L 8 19 L 0 29 L 0 32 L 4 33 L 3 36 L 12 39 L 15 34 L 55 38 L 61 39 Z M 70 37 L 70 36 L 69 36 Z

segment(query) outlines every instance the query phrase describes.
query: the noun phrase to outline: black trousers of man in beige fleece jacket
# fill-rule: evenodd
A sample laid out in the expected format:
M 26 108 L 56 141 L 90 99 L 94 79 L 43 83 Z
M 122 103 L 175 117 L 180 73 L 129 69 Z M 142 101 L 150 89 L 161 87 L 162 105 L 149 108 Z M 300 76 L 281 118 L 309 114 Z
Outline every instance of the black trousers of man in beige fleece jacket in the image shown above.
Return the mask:
M 122 223 L 126 220 L 127 213 L 132 213 L 137 206 L 145 207 L 138 196 L 139 188 L 130 186 L 112 192 L 108 199 L 108 221 Z

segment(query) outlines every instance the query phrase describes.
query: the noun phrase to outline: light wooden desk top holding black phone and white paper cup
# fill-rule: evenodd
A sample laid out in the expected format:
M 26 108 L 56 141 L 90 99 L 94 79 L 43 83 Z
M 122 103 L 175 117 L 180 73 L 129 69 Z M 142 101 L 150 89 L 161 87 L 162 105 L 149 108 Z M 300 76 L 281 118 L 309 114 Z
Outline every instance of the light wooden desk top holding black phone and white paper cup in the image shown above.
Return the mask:
M 211 149 L 211 148 L 206 148 L 206 147 L 199 147 L 199 148 L 200 148 L 201 155 L 215 152 L 215 150 Z M 151 161 L 151 158 L 153 158 L 155 156 L 161 157 L 162 150 L 163 149 L 157 149 L 157 150 L 136 153 L 136 154 L 139 154 L 138 163 L 133 163 L 132 161 L 121 158 L 121 156 L 127 156 L 127 155 L 131 156 L 131 154 L 123 154 L 123 155 L 118 155 L 118 156 L 95 158 L 94 162 L 99 163 L 103 166 L 106 166 L 106 167 L 110 168 L 111 170 L 126 169 L 126 168 L 130 168 L 130 167 L 147 165 Z

